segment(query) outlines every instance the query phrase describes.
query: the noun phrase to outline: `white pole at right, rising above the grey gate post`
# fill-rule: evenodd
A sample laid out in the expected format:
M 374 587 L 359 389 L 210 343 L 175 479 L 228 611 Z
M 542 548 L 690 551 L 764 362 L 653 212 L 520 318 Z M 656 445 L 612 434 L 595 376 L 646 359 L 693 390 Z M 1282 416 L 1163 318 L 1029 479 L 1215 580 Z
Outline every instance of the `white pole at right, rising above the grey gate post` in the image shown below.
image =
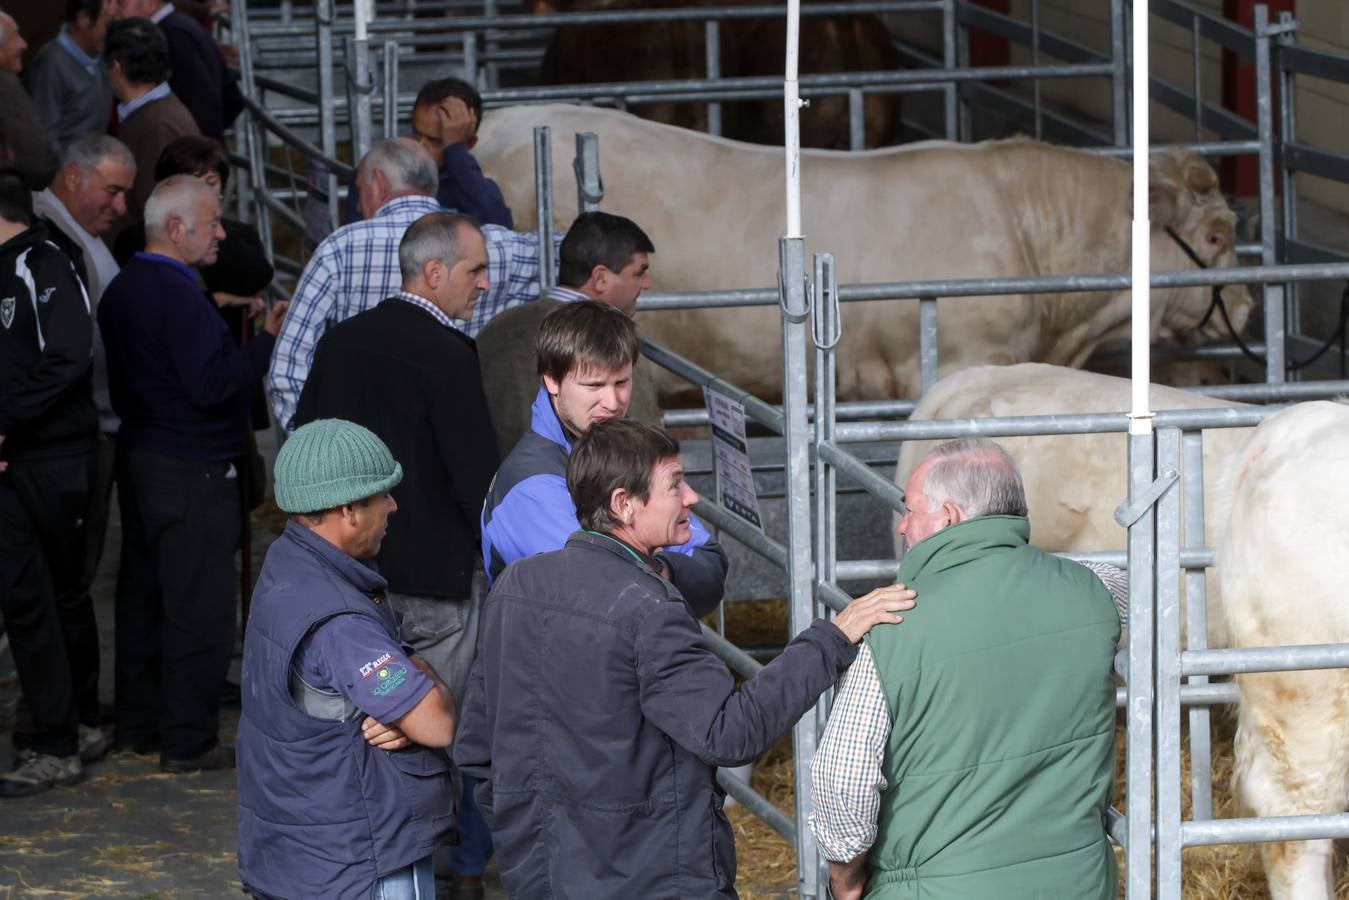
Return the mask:
M 1148 4 L 1133 4 L 1133 242 L 1130 247 L 1133 385 L 1129 433 L 1151 434 L 1148 403 L 1152 340 L 1151 289 L 1152 223 L 1148 221 Z

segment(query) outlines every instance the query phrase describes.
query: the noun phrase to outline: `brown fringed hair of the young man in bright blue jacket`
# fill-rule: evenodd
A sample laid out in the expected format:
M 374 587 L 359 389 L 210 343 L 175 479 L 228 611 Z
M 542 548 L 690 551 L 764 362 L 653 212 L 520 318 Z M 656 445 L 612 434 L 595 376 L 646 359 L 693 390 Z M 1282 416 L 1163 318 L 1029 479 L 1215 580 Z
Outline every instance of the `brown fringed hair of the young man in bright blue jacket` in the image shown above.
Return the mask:
M 544 317 L 534 339 L 538 374 L 563 381 L 583 366 L 612 371 L 637 362 L 637 322 L 608 304 L 576 300 Z

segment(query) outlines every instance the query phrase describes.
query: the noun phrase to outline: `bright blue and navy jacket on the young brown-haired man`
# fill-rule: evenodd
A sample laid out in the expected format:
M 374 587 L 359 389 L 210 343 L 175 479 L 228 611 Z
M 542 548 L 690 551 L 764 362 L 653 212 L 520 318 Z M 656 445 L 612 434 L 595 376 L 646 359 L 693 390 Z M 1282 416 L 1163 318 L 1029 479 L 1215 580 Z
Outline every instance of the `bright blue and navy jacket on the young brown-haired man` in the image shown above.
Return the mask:
M 530 432 L 496 470 L 483 502 L 483 565 L 488 583 L 518 559 L 556 551 L 580 528 L 567 490 L 572 443 L 557 421 L 548 391 L 538 389 L 530 409 Z M 726 551 L 697 517 L 687 544 L 657 553 L 670 580 L 695 615 L 716 609 L 726 588 Z

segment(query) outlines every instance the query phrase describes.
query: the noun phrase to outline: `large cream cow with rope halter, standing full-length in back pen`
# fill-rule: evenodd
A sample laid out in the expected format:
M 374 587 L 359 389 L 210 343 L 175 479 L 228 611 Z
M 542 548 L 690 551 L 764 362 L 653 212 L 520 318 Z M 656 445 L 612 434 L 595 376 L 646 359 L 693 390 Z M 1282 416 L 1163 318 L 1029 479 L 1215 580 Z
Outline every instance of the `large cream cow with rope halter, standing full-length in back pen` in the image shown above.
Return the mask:
M 534 125 L 553 130 L 556 224 L 576 215 L 576 132 L 599 135 L 604 209 L 656 244 L 657 290 L 768 287 L 784 228 L 782 151 L 645 121 L 611 109 L 510 107 L 483 121 L 475 155 L 521 227 L 534 221 Z M 838 258 L 840 283 L 1118 273 L 1129 269 L 1129 166 L 1016 139 L 925 142 L 867 152 L 804 151 L 801 208 L 812 250 Z M 1157 270 L 1193 269 L 1171 225 L 1209 264 L 1234 263 L 1234 215 L 1194 154 L 1153 158 L 1149 200 Z M 1233 321 L 1251 297 L 1225 290 Z M 1155 290 L 1153 336 L 1186 336 L 1209 308 L 1202 287 Z M 1129 331 L 1128 291 L 939 302 L 940 371 L 1040 360 L 1081 366 Z M 1206 327 L 1218 333 L 1217 317 Z M 642 313 L 642 332 L 765 397 L 781 393 L 776 306 Z M 917 304 L 844 305 L 839 395 L 917 394 Z M 670 385 L 662 393 L 670 394 Z

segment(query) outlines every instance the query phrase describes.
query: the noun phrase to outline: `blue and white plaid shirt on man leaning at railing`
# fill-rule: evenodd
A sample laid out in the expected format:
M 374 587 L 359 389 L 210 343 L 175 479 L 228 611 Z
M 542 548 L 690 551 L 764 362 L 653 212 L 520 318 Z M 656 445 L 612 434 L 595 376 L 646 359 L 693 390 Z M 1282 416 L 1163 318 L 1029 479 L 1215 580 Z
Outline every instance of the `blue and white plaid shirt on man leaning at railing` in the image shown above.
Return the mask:
M 324 331 L 399 291 L 398 243 L 409 225 L 434 212 L 444 212 L 434 197 L 395 197 L 370 219 L 339 228 L 314 251 L 295 285 L 267 372 L 271 409 L 286 432 L 293 430 L 299 391 Z M 538 235 L 483 225 L 483 236 L 491 287 L 479 297 L 467 327 L 452 320 L 469 337 L 496 313 L 537 300 L 540 293 Z M 554 246 L 561 240 L 563 235 L 554 235 Z

